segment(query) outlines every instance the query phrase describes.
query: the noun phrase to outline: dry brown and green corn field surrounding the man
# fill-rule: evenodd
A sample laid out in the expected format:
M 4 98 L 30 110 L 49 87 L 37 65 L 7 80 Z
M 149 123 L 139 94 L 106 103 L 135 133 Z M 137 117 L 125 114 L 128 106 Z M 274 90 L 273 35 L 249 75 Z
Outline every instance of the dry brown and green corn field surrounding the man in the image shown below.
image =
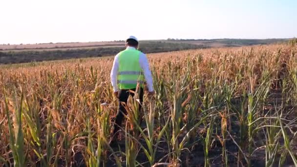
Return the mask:
M 156 95 L 116 147 L 113 57 L 0 66 L 0 166 L 297 166 L 296 44 L 148 59 Z

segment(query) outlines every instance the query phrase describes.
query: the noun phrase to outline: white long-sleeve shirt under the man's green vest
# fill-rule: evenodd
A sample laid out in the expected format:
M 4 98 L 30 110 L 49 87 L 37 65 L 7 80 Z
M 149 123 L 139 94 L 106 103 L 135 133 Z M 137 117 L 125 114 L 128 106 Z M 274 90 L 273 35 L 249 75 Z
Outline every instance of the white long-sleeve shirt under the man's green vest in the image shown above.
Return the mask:
M 135 49 L 134 47 L 128 46 L 126 49 Z M 113 87 L 113 91 L 116 92 L 118 91 L 118 69 L 119 69 L 119 62 L 118 62 L 118 57 L 119 54 L 117 54 L 114 57 L 113 60 L 113 65 L 110 73 L 110 80 L 111 80 L 111 85 Z M 148 59 L 147 56 L 141 52 L 139 56 L 139 65 L 141 69 L 143 70 L 144 77 L 146 79 L 147 85 L 148 85 L 148 91 L 151 92 L 153 91 L 153 84 L 152 84 L 152 77 L 151 77 L 151 72 L 149 70 L 149 64 L 148 64 Z

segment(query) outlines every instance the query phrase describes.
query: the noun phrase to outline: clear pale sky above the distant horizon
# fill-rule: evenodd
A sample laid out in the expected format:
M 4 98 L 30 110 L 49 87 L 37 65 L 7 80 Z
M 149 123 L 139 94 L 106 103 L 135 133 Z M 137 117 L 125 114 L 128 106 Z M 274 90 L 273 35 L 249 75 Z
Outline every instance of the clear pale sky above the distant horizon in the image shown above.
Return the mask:
M 297 37 L 297 0 L 1 0 L 0 43 Z

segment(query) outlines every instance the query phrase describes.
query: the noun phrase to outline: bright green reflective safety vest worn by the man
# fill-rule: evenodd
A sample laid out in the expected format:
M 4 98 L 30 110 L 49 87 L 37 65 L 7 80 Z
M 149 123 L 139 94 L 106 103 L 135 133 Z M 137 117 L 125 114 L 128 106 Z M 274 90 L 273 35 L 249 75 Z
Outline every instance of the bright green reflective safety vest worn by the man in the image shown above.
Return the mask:
M 137 83 L 144 85 L 144 76 L 139 64 L 141 52 L 136 49 L 126 49 L 119 53 L 118 86 L 120 89 L 136 88 Z

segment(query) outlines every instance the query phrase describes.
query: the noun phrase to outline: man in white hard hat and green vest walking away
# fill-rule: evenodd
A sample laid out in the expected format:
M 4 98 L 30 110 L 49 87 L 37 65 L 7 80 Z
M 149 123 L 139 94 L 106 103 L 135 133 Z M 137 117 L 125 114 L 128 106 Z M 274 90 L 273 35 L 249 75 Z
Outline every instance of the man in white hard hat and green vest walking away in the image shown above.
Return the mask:
M 143 102 L 145 81 L 148 88 L 148 96 L 154 95 L 148 59 L 144 53 L 137 50 L 137 38 L 130 36 L 126 40 L 125 45 L 126 50 L 121 51 L 115 56 L 110 73 L 114 95 L 119 99 L 119 108 L 113 125 L 113 136 L 110 140 L 110 145 L 116 143 L 116 133 L 119 131 L 119 126 L 121 126 L 123 118 L 127 114 L 122 102 L 127 104 L 129 95 L 134 97 L 134 93 L 132 92 L 136 91 L 137 84 L 141 85 L 139 90 L 139 111 L 141 111 L 141 104 Z

